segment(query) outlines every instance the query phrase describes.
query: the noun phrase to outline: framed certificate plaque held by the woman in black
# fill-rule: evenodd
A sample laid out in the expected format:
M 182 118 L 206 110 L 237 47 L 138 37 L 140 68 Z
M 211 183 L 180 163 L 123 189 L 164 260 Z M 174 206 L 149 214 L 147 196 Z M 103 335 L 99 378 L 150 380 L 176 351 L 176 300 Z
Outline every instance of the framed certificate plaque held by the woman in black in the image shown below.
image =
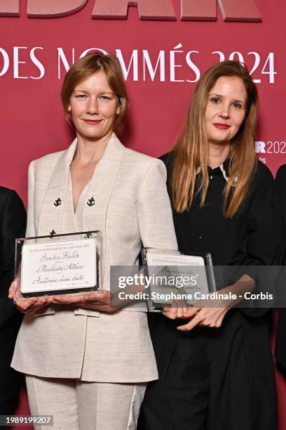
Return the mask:
M 200 294 L 216 291 L 210 254 L 143 248 L 142 260 L 149 311 L 176 304 L 193 306 Z

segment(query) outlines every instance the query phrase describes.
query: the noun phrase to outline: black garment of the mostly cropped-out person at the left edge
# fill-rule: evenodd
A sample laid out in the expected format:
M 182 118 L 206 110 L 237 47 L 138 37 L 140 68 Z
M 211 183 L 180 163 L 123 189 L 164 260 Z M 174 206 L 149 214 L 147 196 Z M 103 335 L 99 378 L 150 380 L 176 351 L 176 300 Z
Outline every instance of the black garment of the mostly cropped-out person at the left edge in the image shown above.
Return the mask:
M 22 314 L 8 299 L 8 289 L 14 278 L 15 238 L 25 236 L 26 221 L 18 194 L 0 187 L 0 403 L 17 393 L 17 374 L 10 363 Z

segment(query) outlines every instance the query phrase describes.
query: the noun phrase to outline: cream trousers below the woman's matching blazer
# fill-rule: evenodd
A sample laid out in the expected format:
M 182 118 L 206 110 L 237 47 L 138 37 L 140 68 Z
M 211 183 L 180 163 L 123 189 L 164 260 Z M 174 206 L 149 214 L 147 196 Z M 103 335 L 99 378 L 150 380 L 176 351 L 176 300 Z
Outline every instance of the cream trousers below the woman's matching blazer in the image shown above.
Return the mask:
M 41 430 L 135 430 L 146 384 L 26 375 L 31 415 L 53 415 Z

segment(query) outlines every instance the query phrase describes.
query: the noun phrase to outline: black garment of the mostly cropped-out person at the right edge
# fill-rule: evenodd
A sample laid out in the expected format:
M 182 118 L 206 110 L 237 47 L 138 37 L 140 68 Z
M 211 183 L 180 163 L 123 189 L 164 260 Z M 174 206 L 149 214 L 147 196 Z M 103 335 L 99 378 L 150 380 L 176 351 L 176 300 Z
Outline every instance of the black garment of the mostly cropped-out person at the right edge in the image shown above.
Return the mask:
M 280 230 L 283 238 L 283 266 L 277 282 L 277 294 L 281 304 L 286 305 L 286 164 L 278 169 L 275 178 L 275 191 L 280 207 Z M 278 304 L 279 306 L 279 304 Z M 280 308 L 276 333 L 275 358 L 286 367 L 286 308 Z

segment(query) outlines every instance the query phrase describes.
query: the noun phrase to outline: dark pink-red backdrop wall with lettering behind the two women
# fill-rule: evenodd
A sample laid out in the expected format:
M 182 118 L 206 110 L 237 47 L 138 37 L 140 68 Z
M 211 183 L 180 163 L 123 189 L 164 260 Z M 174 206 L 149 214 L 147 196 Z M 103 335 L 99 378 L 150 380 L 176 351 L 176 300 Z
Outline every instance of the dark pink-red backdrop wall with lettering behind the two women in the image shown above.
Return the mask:
M 130 118 L 123 143 L 155 157 L 172 146 L 200 73 L 223 56 L 244 61 L 253 69 L 261 102 L 257 156 L 275 174 L 286 162 L 285 0 L 254 0 L 261 22 L 226 22 L 218 6 L 216 20 L 181 20 L 179 0 L 157 1 L 158 7 L 167 12 L 165 18 L 172 20 L 158 20 L 164 16 L 160 11 L 156 20 L 139 20 L 137 7 L 129 7 L 126 20 L 91 18 L 94 6 L 112 2 L 127 3 L 24 0 L 20 1 L 20 16 L 11 17 L 4 13 L 8 8 L 12 12 L 12 6 L 17 13 L 19 2 L 0 0 L 1 185 L 17 190 L 26 202 L 29 162 L 67 148 L 71 142 L 73 133 L 60 103 L 62 77 L 73 56 L 76 60 L 90 48 L 120 58 L 130 96 Z M 27 17 L 27 4 L 29 11 L 38 13 L 45 4 L 52 8 L 57 3 L 70 8 L 84 6 L 60 18 Z M 155 2 L 139 3 L 141 18 L 148 18 L 148 8 Z M 193 6 L 196 3 L 200 4 L 199 12 L 204 4 L 203 13 L 214 18 L 214 0 L 184 0 L 183 13 L 198 12 L 198 6 Z M 166 4 L 168 10 L 164 8 Z M 170 13 L 170 4 L 175 15 Z M 247 18 L 248 6 L 252 9 L 250 15 L 253 12 L 253 0 L 222 0 L 222 4 L 226 19 L 232 12 L 241 12 L 238 18 Z M 278 392 L 280 420 L 285 423 L 282 405 L 286 386 L 279 375 Z

